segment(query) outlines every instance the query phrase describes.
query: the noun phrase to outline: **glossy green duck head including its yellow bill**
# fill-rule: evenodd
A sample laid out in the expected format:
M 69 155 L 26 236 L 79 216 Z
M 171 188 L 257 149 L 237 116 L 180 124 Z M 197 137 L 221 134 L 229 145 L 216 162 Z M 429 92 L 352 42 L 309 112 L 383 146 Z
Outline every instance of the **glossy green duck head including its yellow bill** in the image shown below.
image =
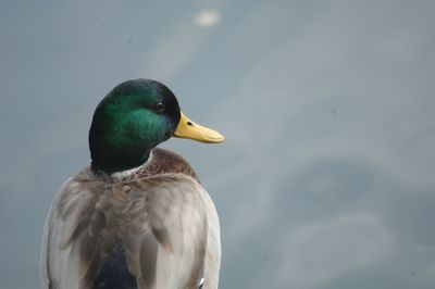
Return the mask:
M 94 113 L 89 129 L 92 171 L 114 173 L 137 167 L 156 146 L 171 137 L 209 143 L 225 140 L 185 116 L 174 93 L 163 84 L 150 79 L 124 81 Z

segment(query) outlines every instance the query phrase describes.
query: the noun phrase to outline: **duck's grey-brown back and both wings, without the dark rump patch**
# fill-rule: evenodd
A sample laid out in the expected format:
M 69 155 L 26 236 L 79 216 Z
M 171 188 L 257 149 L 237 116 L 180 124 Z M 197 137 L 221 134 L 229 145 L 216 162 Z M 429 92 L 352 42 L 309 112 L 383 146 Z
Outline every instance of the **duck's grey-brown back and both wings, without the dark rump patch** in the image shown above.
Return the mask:
M 86 168 L 54 199 L 42 242 L 42 288 L 104 288 L 96 278 L 119 244 L 137 288 L 217 288 L 217 214 L 188 175 L 108 181 Z

